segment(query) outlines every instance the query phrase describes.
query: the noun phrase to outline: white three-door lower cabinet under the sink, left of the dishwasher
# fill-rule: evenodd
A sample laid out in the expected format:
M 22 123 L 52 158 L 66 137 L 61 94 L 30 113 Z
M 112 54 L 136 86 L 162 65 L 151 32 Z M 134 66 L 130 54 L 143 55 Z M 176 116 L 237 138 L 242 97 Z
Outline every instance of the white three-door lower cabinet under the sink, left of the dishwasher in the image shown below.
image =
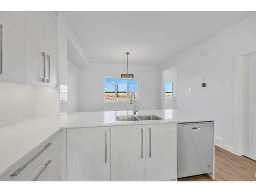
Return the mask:
M 177 123 L 67 130 L 67 181 L 177 179 Z

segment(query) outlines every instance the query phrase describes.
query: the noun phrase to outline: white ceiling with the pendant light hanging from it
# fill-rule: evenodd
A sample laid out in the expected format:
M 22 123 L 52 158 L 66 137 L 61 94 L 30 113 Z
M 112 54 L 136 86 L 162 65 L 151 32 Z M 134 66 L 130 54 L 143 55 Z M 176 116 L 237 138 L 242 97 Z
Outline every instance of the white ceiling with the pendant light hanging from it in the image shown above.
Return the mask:
M 158 65 L 255 12 L 63 12 L 91 62 Z

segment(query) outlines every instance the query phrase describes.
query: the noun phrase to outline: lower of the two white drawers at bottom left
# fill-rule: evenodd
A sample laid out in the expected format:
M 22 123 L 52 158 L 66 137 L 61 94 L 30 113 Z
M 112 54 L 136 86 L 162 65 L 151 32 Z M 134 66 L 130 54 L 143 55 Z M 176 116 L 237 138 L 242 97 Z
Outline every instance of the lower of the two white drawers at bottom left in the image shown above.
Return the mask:
M 54 181 L 58 170 L 58 147 L 51 152 L 25 181 Z

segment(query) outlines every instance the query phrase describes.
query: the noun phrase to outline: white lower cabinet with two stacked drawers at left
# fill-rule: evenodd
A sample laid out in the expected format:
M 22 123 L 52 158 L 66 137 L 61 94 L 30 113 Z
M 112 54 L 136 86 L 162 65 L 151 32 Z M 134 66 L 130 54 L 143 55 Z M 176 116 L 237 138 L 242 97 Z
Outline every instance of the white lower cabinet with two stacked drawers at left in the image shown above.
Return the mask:
M 47 163 L 48 161 L 51 161 Z M 0 181 L 53 181 L 59 175 L 59 146 L 57 133 L 20 159 Z

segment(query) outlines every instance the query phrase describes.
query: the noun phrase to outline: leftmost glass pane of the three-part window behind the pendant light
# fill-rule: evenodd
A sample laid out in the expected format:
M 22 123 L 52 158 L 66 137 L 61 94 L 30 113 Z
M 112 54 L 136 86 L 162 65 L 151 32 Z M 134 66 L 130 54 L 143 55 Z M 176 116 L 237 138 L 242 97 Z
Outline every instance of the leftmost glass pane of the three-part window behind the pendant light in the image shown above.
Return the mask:
M 104 79 L 104 101 L 115 101 L 115 78 Z

